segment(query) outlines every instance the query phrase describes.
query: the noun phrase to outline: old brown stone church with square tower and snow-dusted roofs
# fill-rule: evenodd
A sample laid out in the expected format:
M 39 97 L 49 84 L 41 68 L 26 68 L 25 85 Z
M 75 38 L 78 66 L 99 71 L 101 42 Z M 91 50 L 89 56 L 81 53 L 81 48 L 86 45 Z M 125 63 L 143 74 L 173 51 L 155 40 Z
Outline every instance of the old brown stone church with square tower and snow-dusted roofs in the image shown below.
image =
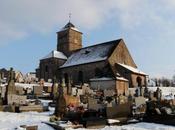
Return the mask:
M 123 39 L 83 47 L 82 34 L 71 22 L 57 32 L 57 50 L 40 59 L 37 77 L 48 81 L 56 76 L 73 84 L 114 79 L 127 81 L 130 88 L 146 86 L 147 74 L 137 68 Z

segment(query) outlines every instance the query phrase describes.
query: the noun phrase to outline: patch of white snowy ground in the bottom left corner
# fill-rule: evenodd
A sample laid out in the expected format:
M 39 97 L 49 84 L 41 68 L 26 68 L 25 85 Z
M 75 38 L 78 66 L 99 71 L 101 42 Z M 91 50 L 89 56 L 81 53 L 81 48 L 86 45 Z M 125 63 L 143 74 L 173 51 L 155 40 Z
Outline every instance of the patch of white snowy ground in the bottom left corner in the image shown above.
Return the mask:
M 0 112 L 0 130 L 14 130 L 20 125 L 38 125 L 39 130 L 53 130 L 50 126 L 42 123 L 49 121 L 49 112 L 24 112 L 24 113 L 10 113 Z

